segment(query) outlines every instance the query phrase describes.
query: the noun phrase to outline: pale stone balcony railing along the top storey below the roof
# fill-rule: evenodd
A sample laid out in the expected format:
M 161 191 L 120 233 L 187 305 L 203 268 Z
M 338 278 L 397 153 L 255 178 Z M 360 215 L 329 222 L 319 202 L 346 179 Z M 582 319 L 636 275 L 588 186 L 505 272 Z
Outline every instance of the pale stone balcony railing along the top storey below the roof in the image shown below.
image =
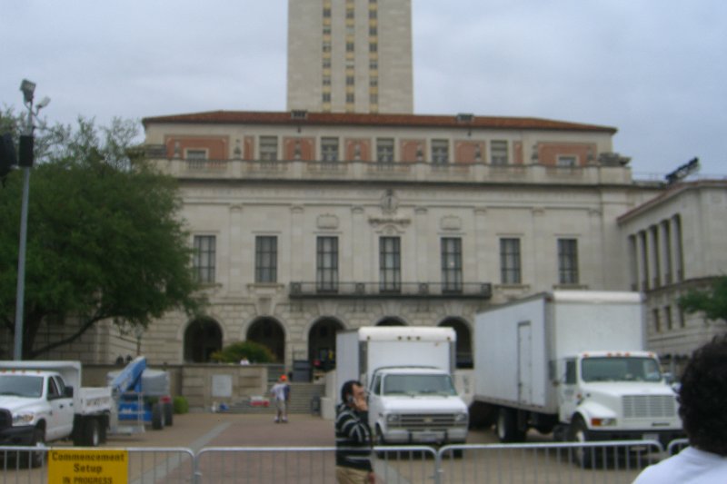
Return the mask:
M 350 181 L 401 183 L 532 183 L 567 185 L 631 184 L 622 166 L 578 167 L 529 165 L 182 160 L 151 158 L 162 173 L 180 179 Z

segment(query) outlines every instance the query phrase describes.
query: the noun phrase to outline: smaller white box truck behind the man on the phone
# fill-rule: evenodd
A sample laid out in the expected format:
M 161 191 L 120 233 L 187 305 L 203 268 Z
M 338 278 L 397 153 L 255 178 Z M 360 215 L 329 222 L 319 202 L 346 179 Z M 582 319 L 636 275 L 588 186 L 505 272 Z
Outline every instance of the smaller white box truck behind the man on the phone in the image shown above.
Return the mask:
M 463 443 L 467 406 L 454 390 L 452 328 L 366 327 L 336 335 L 338 388 L 359 380 L 369 392 L 377 445 Z

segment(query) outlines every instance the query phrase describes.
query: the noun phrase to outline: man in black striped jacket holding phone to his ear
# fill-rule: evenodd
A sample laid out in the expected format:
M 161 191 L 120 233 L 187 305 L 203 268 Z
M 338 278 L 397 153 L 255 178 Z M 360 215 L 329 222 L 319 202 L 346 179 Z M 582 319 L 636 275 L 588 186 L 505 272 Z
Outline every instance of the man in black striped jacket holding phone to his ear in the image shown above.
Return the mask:
M 366 390 L 359 381 L 346 381 L 341 400 L 335 417 L 335 478 L 339 484 L 373 484 Z

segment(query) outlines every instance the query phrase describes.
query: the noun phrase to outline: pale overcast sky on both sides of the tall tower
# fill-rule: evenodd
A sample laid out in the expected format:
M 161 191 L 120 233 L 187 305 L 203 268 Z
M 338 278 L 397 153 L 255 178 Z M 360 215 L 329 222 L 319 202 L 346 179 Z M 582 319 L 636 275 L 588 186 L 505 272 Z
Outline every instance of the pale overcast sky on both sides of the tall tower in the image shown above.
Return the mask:
M 415 114 L 603 124 L 642 177 L 727 174 L 724 0 L 412 5 Z M 7 0 L 0 105 L 27 78 L 51 122 L 283 111 L 286 25 L 287 0 Z

